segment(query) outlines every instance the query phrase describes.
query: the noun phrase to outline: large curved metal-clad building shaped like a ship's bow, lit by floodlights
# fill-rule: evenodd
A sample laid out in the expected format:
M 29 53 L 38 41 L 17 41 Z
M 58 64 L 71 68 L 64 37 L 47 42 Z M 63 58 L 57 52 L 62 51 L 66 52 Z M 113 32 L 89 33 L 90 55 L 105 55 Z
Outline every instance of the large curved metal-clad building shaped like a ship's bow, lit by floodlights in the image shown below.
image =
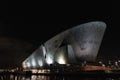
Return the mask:
M 56 62 L 95 61 L 105 29 L 106 24 L 100 21 L 68 29 L 42 44 L 23 62 L 23 66 L 40 68 Z

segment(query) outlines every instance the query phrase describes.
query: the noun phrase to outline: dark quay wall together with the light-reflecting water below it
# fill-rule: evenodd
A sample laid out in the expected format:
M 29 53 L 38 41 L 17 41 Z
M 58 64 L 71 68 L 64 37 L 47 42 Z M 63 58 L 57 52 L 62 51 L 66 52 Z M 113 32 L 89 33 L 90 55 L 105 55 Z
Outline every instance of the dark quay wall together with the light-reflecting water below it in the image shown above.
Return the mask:
M 1 72 L 0 80 L 120 80 L 120 72 L 37 73 Z

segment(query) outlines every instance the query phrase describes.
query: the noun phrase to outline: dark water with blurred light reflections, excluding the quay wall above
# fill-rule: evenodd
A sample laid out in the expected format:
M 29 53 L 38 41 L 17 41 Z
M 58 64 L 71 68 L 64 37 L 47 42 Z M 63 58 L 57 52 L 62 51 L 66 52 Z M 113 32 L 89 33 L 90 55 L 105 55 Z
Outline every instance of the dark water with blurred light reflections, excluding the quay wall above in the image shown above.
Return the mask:
M 0 80 L 120 80 L 120 77 L 80 77 L 80 76 L 44 76 L 44 75 L 0 75 Z

